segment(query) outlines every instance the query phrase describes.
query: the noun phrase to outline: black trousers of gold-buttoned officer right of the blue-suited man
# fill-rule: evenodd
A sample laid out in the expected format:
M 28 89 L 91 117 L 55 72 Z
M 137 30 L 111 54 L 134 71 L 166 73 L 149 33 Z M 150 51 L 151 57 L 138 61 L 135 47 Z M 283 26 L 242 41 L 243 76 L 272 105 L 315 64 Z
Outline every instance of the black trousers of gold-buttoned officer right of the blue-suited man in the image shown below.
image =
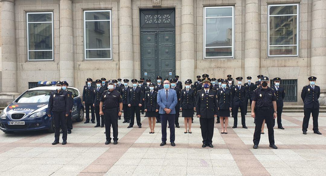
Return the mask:
M 214 117 L 213 118 L 199 118 L 201 137 L 203 138 L 203 143 L 212 144 L 213 134 L 214 134 Z

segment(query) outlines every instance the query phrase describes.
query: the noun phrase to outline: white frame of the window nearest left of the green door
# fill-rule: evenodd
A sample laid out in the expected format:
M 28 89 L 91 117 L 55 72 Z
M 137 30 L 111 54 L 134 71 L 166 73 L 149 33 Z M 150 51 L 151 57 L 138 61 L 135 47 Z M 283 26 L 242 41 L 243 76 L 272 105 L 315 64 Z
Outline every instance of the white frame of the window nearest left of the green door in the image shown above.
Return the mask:
M 110 12 L 110 20 L 86 20 L 87 12 Z M 93 60 L 113 60 L 112 56 L 112 10 L 84 10 L 84 60 L 85 61 L 93 61 Z M 103 49 L 86 49 L 86 22 L 87 21 L 110 21 L 110 47 L 111 48 L 103 48 Z M 111 58 L 86 58 L 87 50 L 110 50 Z

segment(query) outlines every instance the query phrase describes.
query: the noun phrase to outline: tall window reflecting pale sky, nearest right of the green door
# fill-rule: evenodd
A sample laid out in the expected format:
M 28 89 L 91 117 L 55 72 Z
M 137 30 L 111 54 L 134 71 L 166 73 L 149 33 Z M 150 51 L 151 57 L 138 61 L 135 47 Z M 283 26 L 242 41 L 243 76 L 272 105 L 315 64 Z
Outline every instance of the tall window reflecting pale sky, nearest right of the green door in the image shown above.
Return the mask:
M 233 58 L 234 7 L 204 8 L 204 58 Z

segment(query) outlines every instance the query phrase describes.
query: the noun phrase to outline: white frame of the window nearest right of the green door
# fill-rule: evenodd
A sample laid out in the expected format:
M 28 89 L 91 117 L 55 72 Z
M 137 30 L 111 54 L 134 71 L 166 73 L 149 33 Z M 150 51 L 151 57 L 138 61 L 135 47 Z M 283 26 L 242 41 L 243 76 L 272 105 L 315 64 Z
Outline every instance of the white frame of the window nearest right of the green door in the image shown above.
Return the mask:
M 206 17 L 206 9 L 208 8 L 232 8 L 232 16 L 226 16 L 226 17 Z M 234 34 L 235 34 L 235 25 L 234 25 L 234 18 L 235 18 L 235 12 L 234 12 L 234 6 L 214 6 L 214 7 L 204 7 L 204 28 L 203 28 L 203 59 L 219 59 L 219 58 L 227 58 L 227 59 L 234 59 Z M 208 18 L 232 18 L 232 56 L 212 56 L 208 57 L 206 56 L 206 48 L 227 48 L 227 47 L 206 47 L 206 19 Z

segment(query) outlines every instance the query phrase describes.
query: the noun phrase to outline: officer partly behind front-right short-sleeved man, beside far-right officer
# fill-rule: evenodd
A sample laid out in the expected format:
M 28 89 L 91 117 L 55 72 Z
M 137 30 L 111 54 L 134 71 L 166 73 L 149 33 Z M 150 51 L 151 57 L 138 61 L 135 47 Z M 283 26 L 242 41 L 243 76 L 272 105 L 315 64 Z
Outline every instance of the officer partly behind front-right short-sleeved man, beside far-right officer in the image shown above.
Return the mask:
M 274 80 L 274 86 L 271 87 L 273 89 L 276 96 L 276 105 L 277 105 L 277 127 L 279 129 L 284 129 L 282 126 L 282 112 L 283 112 L 283 99 L 285 97 L 285 90 L 282 86 L 280 86 L 281 78 L 276 77 Z M 274 119 L 275 126 L 275 119 Z

